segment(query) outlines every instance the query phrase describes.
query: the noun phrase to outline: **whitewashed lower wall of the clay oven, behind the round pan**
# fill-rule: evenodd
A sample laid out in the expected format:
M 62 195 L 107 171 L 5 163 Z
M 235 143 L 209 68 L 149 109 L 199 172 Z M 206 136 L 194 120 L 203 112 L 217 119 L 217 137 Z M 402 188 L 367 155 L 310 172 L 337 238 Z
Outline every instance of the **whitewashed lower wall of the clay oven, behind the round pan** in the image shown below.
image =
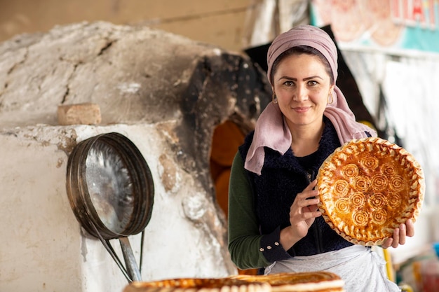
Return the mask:
M 220 250 L 222 239 L 212 232 L 221 226 L 215 207 L 178 167 L 173 153 L 166 152 L 169 133 L 156 125 L 36 125 L 0 131 L 0 291 L 122 291 L 128 284 L 101 242 L 84 233 L 66 191 L 66 142 L 106 132 L 133 141 L 154 179 L 142 279 L 233 273 Z M 168 167 L 175 167 L 175 183 L 168 191 L 161 179 L 172 172 L 164 172 L 157 159 L 161 155 L 168 156 Z M 112 244 L 120 253 L 117 239 Z M 130 244 L 139 263 L 140 235 L 130 237 Z

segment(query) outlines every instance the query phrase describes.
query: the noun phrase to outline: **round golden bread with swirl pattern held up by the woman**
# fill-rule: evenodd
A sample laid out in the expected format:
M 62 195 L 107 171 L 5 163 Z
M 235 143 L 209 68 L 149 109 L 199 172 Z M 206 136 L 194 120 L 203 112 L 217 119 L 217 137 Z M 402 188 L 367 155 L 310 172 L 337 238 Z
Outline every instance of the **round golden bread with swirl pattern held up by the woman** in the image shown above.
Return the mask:
M 344 239 L 380 245 L 424 201 L 421 166 L 404 148 L 377 137 L 337 148 L 317 175 L 323 218 Z

